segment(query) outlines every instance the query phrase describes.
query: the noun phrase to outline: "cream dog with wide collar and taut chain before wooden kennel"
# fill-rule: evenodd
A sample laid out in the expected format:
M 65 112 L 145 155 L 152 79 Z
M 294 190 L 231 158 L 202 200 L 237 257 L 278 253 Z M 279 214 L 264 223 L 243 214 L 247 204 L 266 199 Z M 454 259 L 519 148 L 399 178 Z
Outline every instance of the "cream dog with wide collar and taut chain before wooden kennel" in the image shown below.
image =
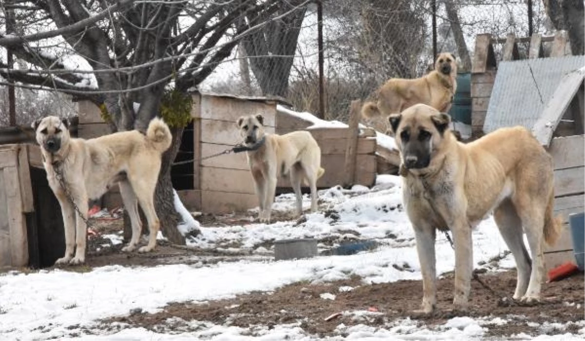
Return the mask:
M 325 170 L 321 168 L 321 149 L 306 131 L 285 135 L 264 132 L 262 115 L 241 116 L 238 128 L 246 146 L 254 146 L 263 137 L 264 144 L 257 150 L 247 151 L 248 164 L 258 195 L 260 221 L 270 222 L 276 181 L 281 175 L 290 176 L 292 190 L 297 197 L 297 215 L 302 214 L 301 181 L 311 188 L 311 212 L 317 210 L 316 182 Z

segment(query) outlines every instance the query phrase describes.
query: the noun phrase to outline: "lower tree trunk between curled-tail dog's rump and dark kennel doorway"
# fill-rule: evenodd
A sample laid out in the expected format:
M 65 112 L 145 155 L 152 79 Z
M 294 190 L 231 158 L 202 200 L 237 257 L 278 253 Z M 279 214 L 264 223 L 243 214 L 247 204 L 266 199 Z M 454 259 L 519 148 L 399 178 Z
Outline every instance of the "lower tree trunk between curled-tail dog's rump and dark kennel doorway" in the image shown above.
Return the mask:
M 173 143 L 171 147 L 164 152 L 163 160 L 160 167 L 159 182 L 154 191 L 154 207 L 160 219 L 160 230 L 168 241 L 174 244 L 184 245 L 185 237 L 177 229 L 178 223 L 181 222 L 181 216 L 177 213 L 174 206 L 173 184 L 171 182 L 171 165 L 177 156 L 181 146 L 181 136 L 184 128 L 171 128 L 173 133 Z

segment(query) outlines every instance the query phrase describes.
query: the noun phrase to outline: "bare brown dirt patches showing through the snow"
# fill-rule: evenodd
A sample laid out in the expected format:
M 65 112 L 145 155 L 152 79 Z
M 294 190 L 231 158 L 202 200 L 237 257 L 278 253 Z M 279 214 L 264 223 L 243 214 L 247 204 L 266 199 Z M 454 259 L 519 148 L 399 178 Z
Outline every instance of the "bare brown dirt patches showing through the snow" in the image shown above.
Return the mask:
M 284 217 L 283 217 L 284 218 Z M 216 219 L 211 216 L 199 217 L 205 225 L 222 226 L 229 223 L 242 223 L 245 217 Z M 227 220 L 226 220 L 227 219 Z M 230 220 L 231 219 L 231 220 Z M 109 221 L 102 225 L 105 230 L 120 230 L 121 221 Z M 103 232 L 103 231 L 102 231 Z M 101 247 L 104 240 L 92 239 L 87 266 L 122 264 L 126 266 L 149 266 L 164 263 L 198 263 L 239 260 L 245 254 L 220 254 L 188 250 L 168 243 L 161 243 L 153 254 L 126 254 L 120 251 L 121 245 Z M 100 251 L 97 251 L 97 248 Z M 270 257 L 271 258 L 271 257 Z M 408 271 L 405 269 L 404 271 Z M 483 273 L 479 281 L 472 281 L 472 295 L 469 311 L 452 310 L 453 274 L 443 275 L 438 281 L 438 311 L 433 315 L 416 314 L 422 299 L 421 281 L 398 281 L 387 284 L 362 283 L 360 278 L 336 281 L 328 284 L 312 285 L 295 283 L 279 288 L 274 292 L 252 292 L 233 299 L 223 299 L 205 303 L 174 302 L 157 314 L 140 311 L 129 316 L 102 321 L 104 328 L 112 322 L 129 326 L 144 327 L 161 332 L 163 330 L 189 330 L 189 321 L 209 321 L 218 325 L 231 325 L 248 328 L 249 326 L 274 326 L 278 324 L 300 323 L 305 332 L 319 337 L 335 336 L 335 329 L 343 323 L 346 326 L 364 324 L 369 326 L 395 326 L 395 321 L 410 318 L 419 325 L 432 328 L 445 323 L 455 316 L 485 317 L 487 320 L 500 317 L 508 322 L 503 325 L 487 326 L 486 337 L 503 339 L 518 333 L 528 335 L 577 333 L 583 326 L 569 324 L 567 329 L 559 330 L 554 323 L 576 322 L 585 319 L 585 274 L 577 274 L 555 283 L 543 284 L 543 299 L 539 304 L 519 305 L 511 300 L 515 289 L 515 271 Z M 261 279 L 259 279 L 261 280 Z M 188 285 L 188 284 L 187 284 Z M 340 287 L 353 290 L 340 292 Z M 324 299 L 321 294 L 336 295 L 334 300 Z M 356 316 L 340 314 L 329 321 L 325 319 L 336 313 L 351 311 L 371 311 L 374 314 Z M 171 321 L 171 322 L 170 322 Z M 113 325 L 116 325 L 115 323 Z

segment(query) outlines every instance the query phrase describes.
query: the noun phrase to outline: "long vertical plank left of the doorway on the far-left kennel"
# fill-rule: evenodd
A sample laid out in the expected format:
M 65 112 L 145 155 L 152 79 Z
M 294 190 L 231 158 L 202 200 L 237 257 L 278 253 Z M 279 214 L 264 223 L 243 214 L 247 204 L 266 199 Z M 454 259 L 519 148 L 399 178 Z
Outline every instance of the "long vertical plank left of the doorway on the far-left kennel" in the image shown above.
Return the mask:
M 22 214 L 22 198 L 16 167 L 4 168 L 4 190 L 6 192 L 6 208 L 10 225 L 10 247 L 12 266 L 26 266 L 29 261 L 26 224 Z

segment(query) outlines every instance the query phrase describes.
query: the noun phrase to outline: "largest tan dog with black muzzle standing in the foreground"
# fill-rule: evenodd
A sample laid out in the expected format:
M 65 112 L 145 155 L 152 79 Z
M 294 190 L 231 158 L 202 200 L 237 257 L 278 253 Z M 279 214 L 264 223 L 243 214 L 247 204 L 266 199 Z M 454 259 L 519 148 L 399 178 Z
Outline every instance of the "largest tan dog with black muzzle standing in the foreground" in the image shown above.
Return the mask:
M 473 270 L 472 228 L 491 212 L 517 265 L 514 299 L 538 300 L 543 242 L 555 242 L 561 223 L 553 217 L 552 159 L 541 144 L 520 126 L 468 144 L 457 142 L 449 131 L 449 115 L 424 104 L 389 120 L 405 168 L 403 200 L 421 263 L 423 311 L 433 311 L 436 304 L 436 229 L 452 232 L 453 304 L 463 309 Z

